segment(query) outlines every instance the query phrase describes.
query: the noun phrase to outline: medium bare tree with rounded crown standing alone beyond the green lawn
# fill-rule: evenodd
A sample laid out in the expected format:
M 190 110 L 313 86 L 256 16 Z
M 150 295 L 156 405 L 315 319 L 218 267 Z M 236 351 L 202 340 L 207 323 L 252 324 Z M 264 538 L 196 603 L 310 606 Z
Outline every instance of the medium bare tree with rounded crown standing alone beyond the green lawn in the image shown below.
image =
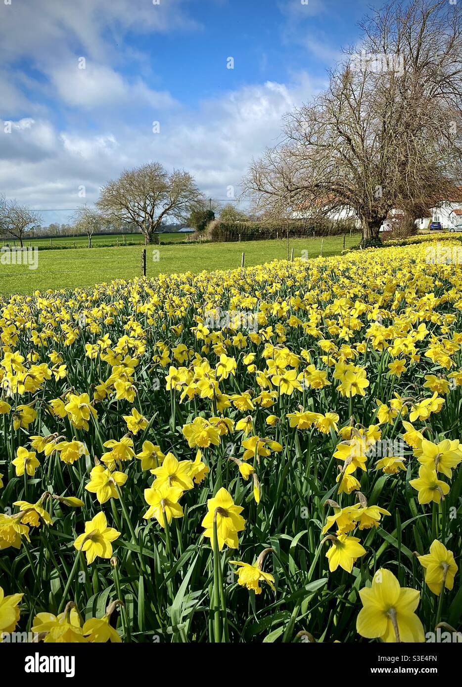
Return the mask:
M 163 221 L 184 221 L 203 201 L 191 174 L 184 170 L 168 174 L 161 164 L 150 162 L 109 181 L 97 205 L 109 221 L 134 223 L 145 243 L 152 243 Z

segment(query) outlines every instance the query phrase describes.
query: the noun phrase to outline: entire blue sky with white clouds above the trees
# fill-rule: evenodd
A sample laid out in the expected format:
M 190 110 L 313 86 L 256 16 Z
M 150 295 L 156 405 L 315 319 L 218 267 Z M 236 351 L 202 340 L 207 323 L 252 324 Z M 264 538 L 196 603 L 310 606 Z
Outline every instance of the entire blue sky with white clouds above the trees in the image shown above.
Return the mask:
M 0 3 L 0 192 L 63 222 L 124 168 L 157 160 L 207 196 L 239 195 L 251 157 L 322 89 L 371 4 Z

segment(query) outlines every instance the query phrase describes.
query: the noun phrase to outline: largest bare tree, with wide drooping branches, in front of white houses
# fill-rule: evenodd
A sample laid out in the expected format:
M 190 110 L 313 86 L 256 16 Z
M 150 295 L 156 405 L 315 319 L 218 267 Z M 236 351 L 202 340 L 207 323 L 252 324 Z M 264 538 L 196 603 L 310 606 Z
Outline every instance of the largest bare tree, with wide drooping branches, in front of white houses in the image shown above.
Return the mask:
M 447 0 L 392 0 L 361 27 L 360 47 L 286 115 L 243 187 L 274 212 L 353 212 L 366 239 L 393 207 L 443 200 L 462 179 L 462 23 Z

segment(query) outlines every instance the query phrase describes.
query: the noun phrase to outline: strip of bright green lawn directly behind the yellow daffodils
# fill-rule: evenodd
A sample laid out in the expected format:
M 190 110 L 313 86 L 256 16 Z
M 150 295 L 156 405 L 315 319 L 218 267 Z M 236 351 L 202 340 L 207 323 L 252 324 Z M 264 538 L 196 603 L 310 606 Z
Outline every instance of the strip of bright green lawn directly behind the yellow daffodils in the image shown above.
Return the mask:
M 358 245 L 360 236 L 347 236 L 347 247 Z M 325 238 L 323 255 L 342 251 L 342 236 Z M 299 238 L 289 241 L 294 257 L 320 255 L 320 238 Z M 158 254 L 154 251 L 158 251 Z M 245 251 L 245 265 L 263 264 L 270 260 L 287 259 L 284 240 L 243 241 L 242 243 L 203 243 L 201 245 L 148 246 L 146 275 L 159 273 L 201 272 L 214 269 L 234 269 L 241 265 Z M 303 252 L 303 251 L 306 251 Z M 131 279 L 141 275 L 141 246 L 76 248 L 72 250 L 39 251 L 39 267 L 29 269 L 23 264 L 0 264 L 0 293 L 32 293 L 48 289 L 71 289 L 92 286 L 114 279 Z M 154 258 L 157 258 L 155 260 Z

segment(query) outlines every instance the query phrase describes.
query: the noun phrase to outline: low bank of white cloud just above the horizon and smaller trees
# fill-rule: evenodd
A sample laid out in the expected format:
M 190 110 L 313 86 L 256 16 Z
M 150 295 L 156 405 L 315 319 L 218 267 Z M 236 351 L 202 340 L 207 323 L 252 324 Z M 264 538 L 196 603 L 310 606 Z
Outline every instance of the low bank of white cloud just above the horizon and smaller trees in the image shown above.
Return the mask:
M 225 198 L 230 185 L 238 195 L 250 158 L 276 143 L 284 113 L 315 90 L 305 74 L 291 85 L 246 86 L 203 101 L 198 111 L 175 113 L 159 134 L 123 123 L 94 135 L 58 132 L 50 122 L 19 120 L 4 135 L 9 149 L 0 146 L 0 188 L 38 210 L 77 207 L 81 185 L 85 201 L 94 203 L 100 186 L 124 168 L 158 160 L 189 170 L 208 196 Z M 50 221 L 48 214 L 43 221 Z

